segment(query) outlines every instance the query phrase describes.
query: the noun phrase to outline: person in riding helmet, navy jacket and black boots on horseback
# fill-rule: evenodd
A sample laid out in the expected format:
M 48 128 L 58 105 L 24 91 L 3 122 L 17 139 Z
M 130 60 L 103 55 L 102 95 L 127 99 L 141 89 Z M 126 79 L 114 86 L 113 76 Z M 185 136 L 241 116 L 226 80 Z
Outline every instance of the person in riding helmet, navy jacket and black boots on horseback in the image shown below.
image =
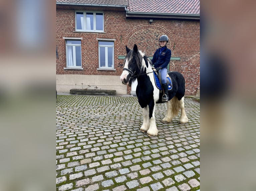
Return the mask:
M 168 101 L 168 84 L 166 82 L 167 65 L 171 59 L 171 50 L 166 47 L 169 39 L 166 35 L 162 35 L 159 38 L 159 48 L 155 51 L 151 60 L 155 69 L 161 73 L 161 82 L 164 90 L 162 101 Z

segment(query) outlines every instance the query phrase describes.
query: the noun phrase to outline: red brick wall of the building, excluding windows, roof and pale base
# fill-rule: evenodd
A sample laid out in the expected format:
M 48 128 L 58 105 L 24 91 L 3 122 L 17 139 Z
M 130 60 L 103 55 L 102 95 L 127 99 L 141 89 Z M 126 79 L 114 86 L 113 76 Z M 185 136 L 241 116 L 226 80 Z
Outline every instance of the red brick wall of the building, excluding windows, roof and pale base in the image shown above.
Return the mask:
M 171 61 L 170 70 L 181 72 L 186 81 L 186 95 L 196 95 L 200 89 L 200 22 L 180 20 L 126 19 L 124 12 L 104 11 L 104 33 L 86 33 L 75 31 L 75 11 L 56 10 L 56 46 L 59 58 L 56 59 L 56 74 L 116 75 L 120 76 L 123 63 L 119 55 L 126 55 L 125 45 L 134 44 L 153 56 L 158 48 L 158 39 L 165 34 L 169 37 L 167 47 L 172 57 L 180 61 Z M 82 37 L 82 67 L 84 70 L 64 70 L 66 67 L 66 44 L 63 37 Z M 96 38 L 116 39 L 114 43 L 114 64 L 116 71 L 97 71 L 98 40 Z M 173 66 L 174 65 L 174 66 Z M 131 88 L 127 89 L 130 94 Z

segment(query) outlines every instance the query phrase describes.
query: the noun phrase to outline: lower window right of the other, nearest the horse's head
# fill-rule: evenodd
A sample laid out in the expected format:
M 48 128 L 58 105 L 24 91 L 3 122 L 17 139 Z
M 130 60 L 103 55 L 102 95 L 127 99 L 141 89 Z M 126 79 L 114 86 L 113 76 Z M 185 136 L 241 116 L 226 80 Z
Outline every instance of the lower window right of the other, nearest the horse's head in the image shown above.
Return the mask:
M 114 42 L 99 41 L 99 68 L 114 69 Z

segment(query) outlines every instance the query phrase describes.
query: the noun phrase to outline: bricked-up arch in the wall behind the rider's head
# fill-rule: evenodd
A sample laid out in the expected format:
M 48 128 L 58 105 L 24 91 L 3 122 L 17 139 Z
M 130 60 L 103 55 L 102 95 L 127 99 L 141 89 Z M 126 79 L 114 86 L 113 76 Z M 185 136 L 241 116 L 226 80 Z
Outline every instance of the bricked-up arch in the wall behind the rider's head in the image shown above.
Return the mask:
M 145 52 L 148 56 L 153 56 L 153 53 L 149 53 L 156 50 L 158 47 L 158 39 L 160 35 L 167 35 L 169 38 L 169 49 L 173 49 L 174 38 L 172 34 L 160 25 L 143 24 L 134 27 L 124 38 L 124 45 L 132 48 L 134 44 L 139 46 L 139 50 Z M 142 45 L 142 46 L 141 46 Z M 152 55 L 151 55 L 152 54 Z

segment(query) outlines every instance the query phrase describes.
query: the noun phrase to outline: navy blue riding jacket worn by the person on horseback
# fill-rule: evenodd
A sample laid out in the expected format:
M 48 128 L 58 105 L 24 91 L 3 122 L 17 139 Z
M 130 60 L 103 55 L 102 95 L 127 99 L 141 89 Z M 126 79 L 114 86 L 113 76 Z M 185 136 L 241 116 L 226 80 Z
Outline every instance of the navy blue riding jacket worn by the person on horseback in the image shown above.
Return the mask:
M 170 62 L 170 59 L 171 59 L 171 50 L 168 49 L 166 46 L 164 46 L 162 48 L 160 47 L 155 51 L 151 62 L 155 68 L 158 68 L 158 67 L 167 68 Z

